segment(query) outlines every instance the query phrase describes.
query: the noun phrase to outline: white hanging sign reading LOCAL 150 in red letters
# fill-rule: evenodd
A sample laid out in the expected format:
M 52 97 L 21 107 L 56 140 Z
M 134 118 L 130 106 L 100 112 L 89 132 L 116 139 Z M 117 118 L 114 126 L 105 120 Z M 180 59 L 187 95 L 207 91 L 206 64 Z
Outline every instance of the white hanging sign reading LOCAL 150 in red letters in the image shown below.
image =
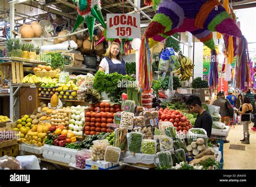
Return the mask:
M 107 38 L 140 38 L 139 13 L 107 13 Z

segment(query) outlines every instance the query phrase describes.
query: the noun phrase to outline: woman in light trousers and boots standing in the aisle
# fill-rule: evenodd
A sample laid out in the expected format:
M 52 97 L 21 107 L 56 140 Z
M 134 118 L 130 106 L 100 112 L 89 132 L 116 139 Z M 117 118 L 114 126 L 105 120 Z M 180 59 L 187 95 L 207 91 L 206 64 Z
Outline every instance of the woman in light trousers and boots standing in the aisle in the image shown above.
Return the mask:
M 244 98 L 244 104 L 239 108 L 238 113 L 241 114 L 241 123 L 244 128 L 244 139 L 240 140 L 242 143 L 250 144 L 249 124 L 251 123 L 251 112 L 253 106 L 251 99 Z

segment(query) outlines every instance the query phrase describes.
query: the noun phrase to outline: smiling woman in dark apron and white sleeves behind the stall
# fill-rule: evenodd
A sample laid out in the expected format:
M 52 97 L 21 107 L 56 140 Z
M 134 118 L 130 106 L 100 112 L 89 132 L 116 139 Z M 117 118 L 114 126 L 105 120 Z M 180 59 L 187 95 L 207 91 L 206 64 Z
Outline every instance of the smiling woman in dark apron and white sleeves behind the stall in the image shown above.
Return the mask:
M 106 55 L 99 64 L 99 71 L 104 71 L 105 74 L 117 72 L 118 74 L 126 75 L 125 61 L 122 58 L 120 46 L 117 42 L 112 42 L 107 48 Z

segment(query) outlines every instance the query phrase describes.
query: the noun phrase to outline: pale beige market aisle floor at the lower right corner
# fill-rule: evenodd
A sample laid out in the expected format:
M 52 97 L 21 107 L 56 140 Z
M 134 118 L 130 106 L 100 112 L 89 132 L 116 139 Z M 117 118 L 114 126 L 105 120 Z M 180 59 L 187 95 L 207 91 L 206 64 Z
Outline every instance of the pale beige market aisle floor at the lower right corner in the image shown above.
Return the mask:
M 249 126 L 250 145 L 241 143 L 242 125 L 232 126 L 227 140 L 230 143 L 224 143 L 224 169 L 256 169 L 256 132 L 251 130 L 253 123 Z M 230 145 L 245 146 L 245 150 L 230 149 Z

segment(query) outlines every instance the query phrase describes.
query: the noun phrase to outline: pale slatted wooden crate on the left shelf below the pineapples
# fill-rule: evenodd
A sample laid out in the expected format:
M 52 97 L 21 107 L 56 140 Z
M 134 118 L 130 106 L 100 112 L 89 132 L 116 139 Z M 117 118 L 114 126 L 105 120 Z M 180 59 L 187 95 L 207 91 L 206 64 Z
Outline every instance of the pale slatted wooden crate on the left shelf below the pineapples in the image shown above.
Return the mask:
M 20 62 L 11 62 L 0 64 L 2 71 L 2 80 L 4 78 L 12 79 L 12 83 L 21 83 L 24 77 L 23 73 L 23 63 Z M 2 82 L 3 83 L 3 82 Z

